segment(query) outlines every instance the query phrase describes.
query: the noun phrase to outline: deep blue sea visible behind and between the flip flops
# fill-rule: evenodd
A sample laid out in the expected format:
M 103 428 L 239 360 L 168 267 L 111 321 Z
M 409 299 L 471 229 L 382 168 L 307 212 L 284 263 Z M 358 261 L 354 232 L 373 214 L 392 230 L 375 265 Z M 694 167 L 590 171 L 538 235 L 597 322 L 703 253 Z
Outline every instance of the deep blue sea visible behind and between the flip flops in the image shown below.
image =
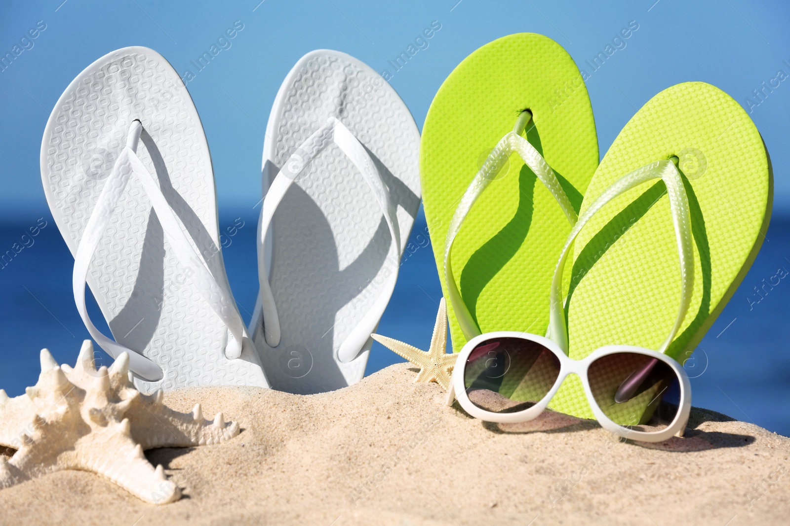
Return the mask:
M 223 215 L 220 228 L 236 226 L 224 248 L 231 288 L 246 321 L 258 293 L 257 217 Z M 238 228 L 243 224 L 241 228 Z M 412 230 L 416 249 L 404 259 L 401 274 L 381 323 L 380 334 L 427 349 L 438 301 L 442 297 L 420 212 Z M 34 235 L 35 234 L 35 235 Z M 420 242 L 421 241 L 421 242 Z M 226 241 L 227 244 L 227 241 Z M 420 246 L 423 245 L 423 246 Z M 24 393 L 38 377 L 39 351 L 50 349 L 60 363 L 73 364 L 88 338 L 71 289 L 73 259 L 48 214 L 19 214 L 0 222 L 0 388 L 9 396 Z M 18 252 L 18 253 L 16 253 Z M 691 377 L 692 403 L 756 423 L 790 436 L 790 218 L 773 218 L 754 265 L 729 304 L 685 365 Z M 93 305 L 91 317 L 102 316 Z M 105 364 L 111 363 L 103 356 Z M 367 374 L 401 362 L 374 343 Z

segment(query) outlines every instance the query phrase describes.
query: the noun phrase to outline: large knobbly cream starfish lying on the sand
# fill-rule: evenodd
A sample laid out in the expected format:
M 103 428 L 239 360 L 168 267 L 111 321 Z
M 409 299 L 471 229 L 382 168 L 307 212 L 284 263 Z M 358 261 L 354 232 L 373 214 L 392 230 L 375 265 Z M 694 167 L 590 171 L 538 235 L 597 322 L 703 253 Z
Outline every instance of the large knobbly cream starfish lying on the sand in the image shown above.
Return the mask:
M 0 489 L 64 469 L 95 472 L 151 504 L 181 498 L 161 465 L 154 468 L 143 450 L 217 444 L 239 435 L 239 423 L 222 413 L 203 419 L 200 404 L 190 413 L 163 402 L 162 390 L 141 394 L 129 373 L 129 355 L 96 370 L 93 345 L 85 340 L 77 365 L 58 365 L 41 350 L 36 386 L 9 398 L 0 390 Z

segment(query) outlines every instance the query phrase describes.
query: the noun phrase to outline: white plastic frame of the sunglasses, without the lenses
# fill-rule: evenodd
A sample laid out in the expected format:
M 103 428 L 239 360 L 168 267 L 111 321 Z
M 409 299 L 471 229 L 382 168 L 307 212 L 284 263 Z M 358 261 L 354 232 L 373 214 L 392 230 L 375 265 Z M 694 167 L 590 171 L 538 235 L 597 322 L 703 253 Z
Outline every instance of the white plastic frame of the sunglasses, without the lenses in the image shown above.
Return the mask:
M 474 350 L 484 341 L 494 340 L 497 338 L 521 338 L 527 341 L 534 341 L 537 344 L 543 345 L 546 349 L 549 349 L 559 359 L 559 375 L 557 376 L 554 385 L 551 386 L 551 389 L 548 391 L 546 396 L 540 399 L 540 401 L 536 402 L 535 405 L 532 405 L 532 407 L 526 408 L 523 411 L 506 413 L 486 411 L 485 409 L 474 405 L 472 401 L 469 400 L 469 396 L 466 392 L 466 386 L 464 385 L 464 371 L 468 356 L 472 353 L 472 350 Z M 592 396 L 592 389 L 590 388 L 589 379 L 587 376 L 589 366 L 595 360 L 598 360 L 603 356 L 617 353 L 637 353 L 649 356 L 651 358 L 656 358 L 656 360 L 664 362 L 664 364 L 672 367 L 672 370 L 675 371 L 675 375 L 678 376 L 680 384 L 680 403 L 678 412 L 675 415 L 675 419 L 672 420 L 672 423 L 670 423 L 664 429 L 660 431 L 646 432 L 624 427 L 619 423 L 615 423 L 614 421 L 610 420 L 596 403 L 595 397 Z M 680 364 L 678 364 L 669 356 L 653 351 L 652 349 L 645 349 L 644 347 L 636 347 L 634 345 L 606 345 L 596 349 L 581 360 L 574 360 L 570 358 L 570 356 L 567 356 L 565 353 L 563 353 L 562 349 L 560 349 L 559 345 L 557 345 L 555 341 L 551 341 L 550 339 L 544 338 L 543 336 L 538 336 L 537 334 L 516 331 L 497 331 L 480 334 L 479 336 L 467 341 L 466 345 L 464 345 L 464 348 L 461 349 L 461 353 L 458 354 L 455 367 L 453 367 L 453 376 L 450 379 L 450 391 L 447 394 L 447 405 L 453 405 L 453 401 L 457 400 L 461 405 L 461 408 L 468 412 L 470 416 L 484 420 L 486 422 L 528 422 L 529 420 L 536 419 L 538 416 L 540 416 L 540 413 L 544 412 L 548 403 L 555 396 L 555 394 L 557 394 L 559 386 L 562 386 L 562 382 L 565 382 L 565 379 L 571 373 L 575 373 L 581 379 L 581 384 L 584 386 L 585 395 L 587 396 L 587 401 L 589 402 L 590 408 L 592 408 L 592 413 L 595 415 L 596 420 L 598 420 L 598 423 L 600 423 L 601 427 L 604 427 L 604 429 L 607 431 L 611 431 L 616 435 L 640 442 L 663 442 L 664 440 L 671 438 L 673 435 L 683 436 L 683 431 L 686 429 L 689 413 L 691 410 L 691 384 L 686 371 L 684 371 L 683 367 L 681 367 Z

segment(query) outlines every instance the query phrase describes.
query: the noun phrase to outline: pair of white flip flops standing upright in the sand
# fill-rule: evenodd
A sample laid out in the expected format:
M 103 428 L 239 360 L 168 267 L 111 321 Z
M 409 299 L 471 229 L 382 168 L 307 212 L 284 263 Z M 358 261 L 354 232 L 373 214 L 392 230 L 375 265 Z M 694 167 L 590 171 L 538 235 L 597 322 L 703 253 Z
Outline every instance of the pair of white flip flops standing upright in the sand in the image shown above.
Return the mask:
M 209 146 L 175 69 L 126 47 L 88 66 L 47 122 L 41 177 L 92 338 L 141 390 L 362 379 L 420 201 L 419 131 L 347 54 L 313 51 L 277 94 L 263 152 L 261 292 L 249 327 L 225 274 Z M 96 329 L 85 283 L 113 338 Z

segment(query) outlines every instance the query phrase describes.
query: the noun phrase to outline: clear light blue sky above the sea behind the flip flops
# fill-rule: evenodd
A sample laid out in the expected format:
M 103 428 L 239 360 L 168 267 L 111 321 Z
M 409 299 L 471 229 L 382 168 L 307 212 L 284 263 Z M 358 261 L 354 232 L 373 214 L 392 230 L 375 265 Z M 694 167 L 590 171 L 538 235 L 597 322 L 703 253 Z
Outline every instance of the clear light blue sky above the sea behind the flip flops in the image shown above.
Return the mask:
M 581 69 L 608 45 L 615 49 L 587 80 L 600 152 L 648 99 L 672 84 L 704 80 L 751 110 L 766 141 L 776 180 L 776 213 L 790 215 L 790 8 L 779 1 L 647 0 L 646 2 L 350 2 L 285 0 L 152 2 L 151 0 L 9 1 L 0 6 L 0 54 L 22 49 L 0 72 L 0 216 L 46 210 L 39 150 L 47 117 L 70 80 L 103 54 L 142 45 L 164 55 L 187 84 L 209 138 L 220 212 L 239 214 L 260 199 L 263 129 L 280 82 L 307 51 L 352 54 L 391 84 L 422 127 L 442 80 L 469 53 L 513 32 L 550 36 Z M 42 21 L 42 22 L 39 22 Z M 638 30 L 613 39 L 635 21 Z M 29 39 L 36 24 L 46 25 Z M 431 39 L 423 30 L 440 26 Z M 220 36 L 243 26 L 233 39 Z M 220 52 L 202 71 L 201 54 Z M 392 62 L 418 51 L 400 71 Z M 24 49 L 27 48 L 27 49 Z M 2 68 L 0 68 L 2 69 Z M 778 87 L 755 99 L 762 82 Z M 751 99 L 752 106 L 747 101 Z M 752 107 L 749 107 L 752 106 Z

